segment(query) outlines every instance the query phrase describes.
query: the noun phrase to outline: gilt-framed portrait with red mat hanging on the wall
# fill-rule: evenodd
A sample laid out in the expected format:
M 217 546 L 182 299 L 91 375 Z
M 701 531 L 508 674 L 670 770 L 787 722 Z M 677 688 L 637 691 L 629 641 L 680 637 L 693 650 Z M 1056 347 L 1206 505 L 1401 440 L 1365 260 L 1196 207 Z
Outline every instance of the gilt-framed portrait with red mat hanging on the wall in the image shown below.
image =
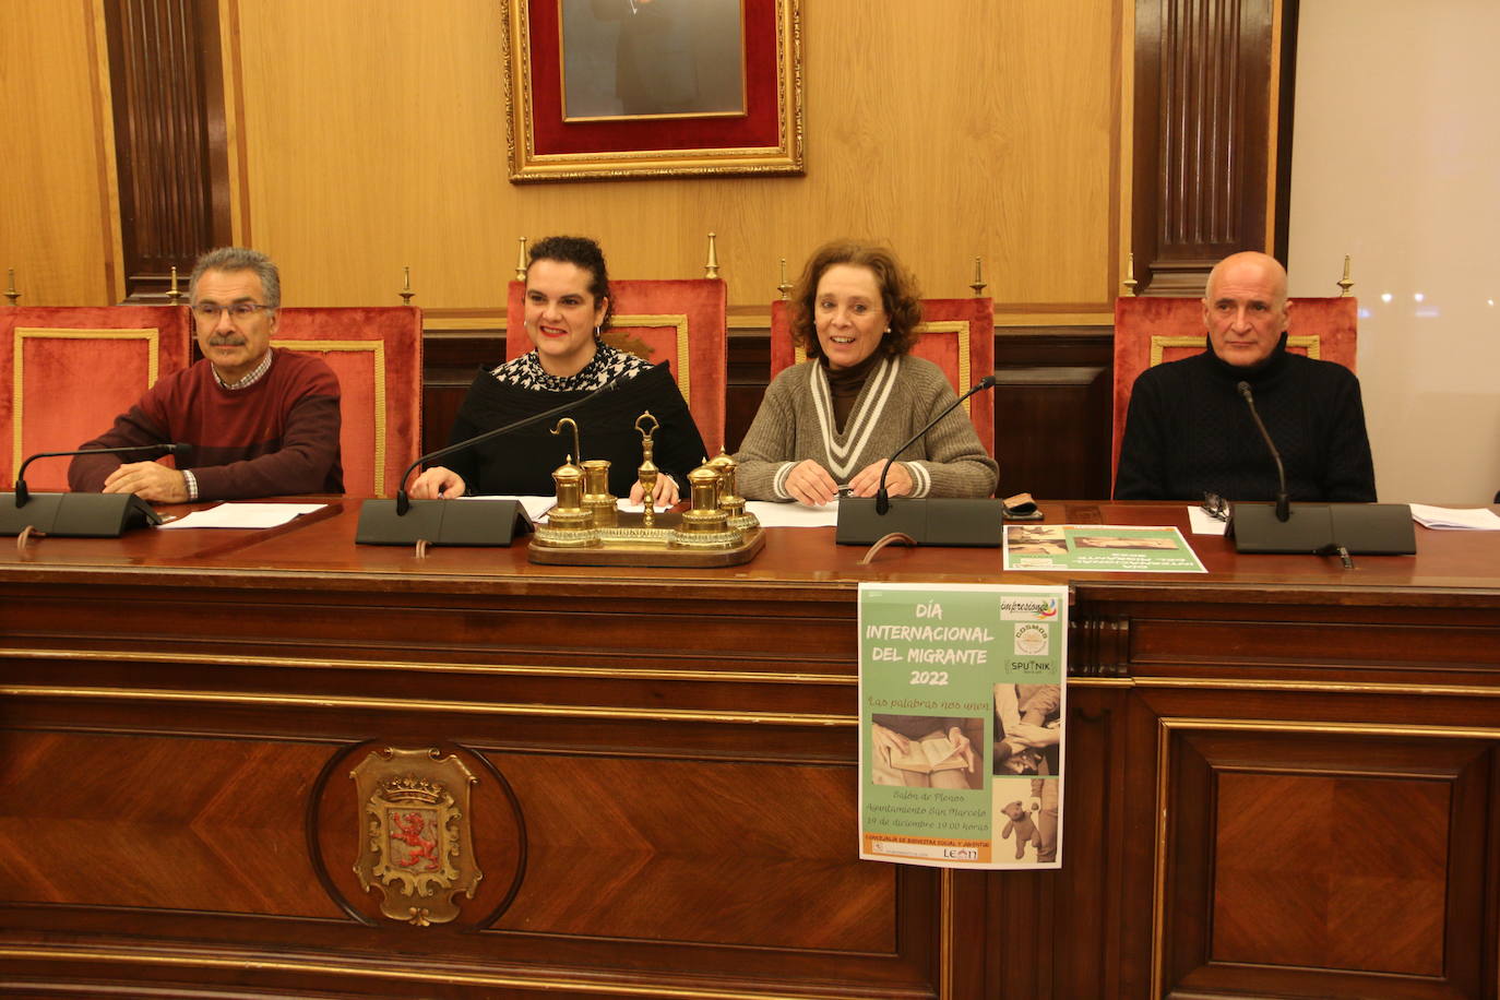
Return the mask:
M 501 0 L 512 181 L 802 172 L 800 0 Z

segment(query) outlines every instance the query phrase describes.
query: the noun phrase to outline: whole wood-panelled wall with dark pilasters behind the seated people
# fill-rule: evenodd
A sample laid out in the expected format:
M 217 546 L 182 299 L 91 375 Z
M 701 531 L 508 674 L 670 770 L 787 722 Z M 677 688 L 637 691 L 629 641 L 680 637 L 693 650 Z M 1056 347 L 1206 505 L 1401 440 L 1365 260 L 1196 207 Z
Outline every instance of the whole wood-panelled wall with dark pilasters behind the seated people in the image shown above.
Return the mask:
M 210 156 L 224 136 L 207 171 L 213 241 L 228 214 L 234 241 L 280 262 L 290 304 L 394 304 L 410 265 L 429 327 L 429 442 L 446 436 L 474 358 L 496 355 L 516 237 L 590 234 L 616 276 L 646 277 L 700 274 L 717 232 L 730 336 L 750 337 L 732 351 L 734 441 L 764 391 L 748 372 L 778 261 L 795 274 L 818 243 L 862 235 L 890 240 L 934 297 L 969 294 L 984 259 L 1002 492 L 1040 496 L 1108 492 L 1107 324 L 1124 253 L 1149 291 L 1196 294 L 1214 259 L 1270 238 L 1276 24 L 1296 9 L 802 0 L 804 177 L 514 186 L 495 0 L 14 6 L 0 96 L 20 111 L 6 186 L 20 193 L 0 201 L 0 267 L 16 267 L 26 304 L 117 301 L 126 271 L 180 249 L 132 208 L 134 189 L 116 190 L 110 109 L 130 94 L 111 94 L 104 30 L 106 9 L 170 7 L 200 18 L 194 51 L 219 60 L 198 69 L 208 103 L 220 70 L 222 120 L 210 109 L 195 126 Z M 200 163 L 174 180 L 204 175 Z

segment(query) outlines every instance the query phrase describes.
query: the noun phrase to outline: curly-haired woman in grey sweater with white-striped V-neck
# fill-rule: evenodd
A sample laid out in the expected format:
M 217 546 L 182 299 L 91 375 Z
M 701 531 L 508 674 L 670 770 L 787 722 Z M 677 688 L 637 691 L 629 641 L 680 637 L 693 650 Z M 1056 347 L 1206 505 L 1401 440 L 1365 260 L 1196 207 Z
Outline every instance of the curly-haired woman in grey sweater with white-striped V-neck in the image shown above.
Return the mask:
M 750 499 L 822 505 L 840 490 L 874 496 L 880 466 L 952 403 L 946 376 L 909 354 L 921 322 L 916 282 L 884 246 L 838 240 L 813 253 L 792 297 L 792 337 L 808 360 L 772 379 L 735 459 Z M 988 496 L 998 466 L 962 409 L 900 460 L 891 496 Z

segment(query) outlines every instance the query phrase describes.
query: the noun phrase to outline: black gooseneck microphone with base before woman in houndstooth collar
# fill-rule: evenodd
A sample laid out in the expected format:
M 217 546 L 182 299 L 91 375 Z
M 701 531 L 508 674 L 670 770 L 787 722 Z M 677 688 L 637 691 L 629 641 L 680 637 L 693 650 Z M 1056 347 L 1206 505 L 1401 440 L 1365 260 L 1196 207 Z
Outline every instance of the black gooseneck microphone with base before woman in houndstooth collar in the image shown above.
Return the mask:
M 406 480 L 422 465 L 576 409 L 596 396 L 603 396 L 618 388 L 622 378 L 622 375 L 616 375 L 585 396 L 420 456 L 400 474 L 400 486 L 396 487 L 394 501 L 364 501 L 360 507 L 360 525 L 354 540 L 358 544 L 369 546 L 405 546 L 416 543 L 418 538 L 424 538 L 430 544 L 508 546 L 518 531 L 531 531 L 531 520 L 526 519 L 526 513 L 519 501 L 480 499 L 464 504 L 442 499 L 412 501 L 406 495 Z M 574 462 L 582 462 L 582 456 L 573 456 L 573 459 Z

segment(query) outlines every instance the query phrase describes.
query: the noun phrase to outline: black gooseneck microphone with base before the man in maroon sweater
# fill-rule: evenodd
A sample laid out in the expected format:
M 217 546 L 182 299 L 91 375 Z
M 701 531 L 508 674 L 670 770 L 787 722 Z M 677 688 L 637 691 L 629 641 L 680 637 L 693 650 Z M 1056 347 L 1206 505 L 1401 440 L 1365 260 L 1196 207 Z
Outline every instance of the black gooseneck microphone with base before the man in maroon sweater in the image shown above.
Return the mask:
M 126 528 L 162 523 L 150 504 L 134 493 L 32 493 L 26 469 L 38 459 L 81 454 L 144 453 L 150 457 L 186 457 L 192 445 L 182 442 L 135 444 L 118 448 L 74 448 L 38 451 L 15 474 L 15 493 L 0 493 L 0 535 L 20 535 L 32 528 L 40 535 L 116 538 Z M 6 502 L 14 498 L 14 502 Z M 24 508 L 24 510 L 22 510 Z

